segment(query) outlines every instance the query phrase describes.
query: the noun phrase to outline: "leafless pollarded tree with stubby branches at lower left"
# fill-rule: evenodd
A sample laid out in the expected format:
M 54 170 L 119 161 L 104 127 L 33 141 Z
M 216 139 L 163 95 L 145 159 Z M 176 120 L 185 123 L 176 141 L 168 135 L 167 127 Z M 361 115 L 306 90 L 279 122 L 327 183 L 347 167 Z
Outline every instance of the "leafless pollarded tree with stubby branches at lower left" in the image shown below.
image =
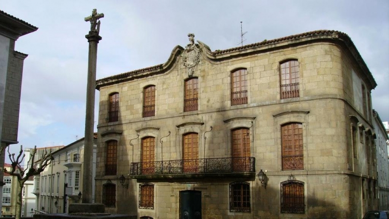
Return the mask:
M 0 148 L 0 155 L 3 151 L 3 147 Z M 15 159 L 15 154 L 11 154 L 9 152 L 8 147 L 8 157 L 11 160 L 11 170 L 7 170 L 5 168 L 2 169 L 4 173 L 8 173 L 11 176 L 16 176 L 18 178 L 18 197 L 16 201 L 16 219 L 21 218 L 21 204 L 22 204 L 22 191 L 24 183 L 28 180 L 28 178 L 39 175 L 45 168 L 48 166 L 51 161 L 53 160 L 52 157 L 52 150 L 50 149 L 49 152 L 45 149 L 45 151 L 42 154 L 42 157 L 40 160 L 34 164 L 34 158 L 36 154 L 36 146 L 34 147 L 33 151 L 30 153 L 30 158 L 28 160 L 28 166 L 26 168 L 21 167 L 21 163 L 23 162 L 24 157 L 26 156 L 23 154 L 22 146 L 20 146 L 20 151 L 18 157 Z M 22 156 L 23 155 L 23 156 Z M 20 159 L 21 157 L 21 159 Z M 20 159 L 20 160 L 19 160 Z

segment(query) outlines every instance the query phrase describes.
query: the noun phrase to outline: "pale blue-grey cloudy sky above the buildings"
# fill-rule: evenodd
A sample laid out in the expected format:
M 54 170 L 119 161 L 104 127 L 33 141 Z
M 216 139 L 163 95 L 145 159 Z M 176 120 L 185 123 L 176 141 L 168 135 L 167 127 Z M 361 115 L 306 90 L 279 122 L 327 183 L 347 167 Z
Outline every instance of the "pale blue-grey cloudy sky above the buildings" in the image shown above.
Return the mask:
M 344 32 L 378 84 L 373 109 L 389 120 L 388 0 L 0 0 L 0 10 L 39 28 L 16 43 L 29 55 L 18 145 L 68 145 L 84 136 L 90 28 L 84 18 L 93 8 L 105 15 L 97 79 L 166 62 L 176 45 L 188 43 L 188 33 L 212 51 L 237 47 L 241 21 L 244 44 L 321 29 Z

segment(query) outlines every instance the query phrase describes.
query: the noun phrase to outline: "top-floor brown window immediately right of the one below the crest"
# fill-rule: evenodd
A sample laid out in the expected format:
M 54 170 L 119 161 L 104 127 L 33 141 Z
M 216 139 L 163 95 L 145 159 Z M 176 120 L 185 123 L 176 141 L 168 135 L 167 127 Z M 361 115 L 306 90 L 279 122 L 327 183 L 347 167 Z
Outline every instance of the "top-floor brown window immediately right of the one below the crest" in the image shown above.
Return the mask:
M 247 104 L 248 74 L 246 69 L 231 72 L 231 106 Z

